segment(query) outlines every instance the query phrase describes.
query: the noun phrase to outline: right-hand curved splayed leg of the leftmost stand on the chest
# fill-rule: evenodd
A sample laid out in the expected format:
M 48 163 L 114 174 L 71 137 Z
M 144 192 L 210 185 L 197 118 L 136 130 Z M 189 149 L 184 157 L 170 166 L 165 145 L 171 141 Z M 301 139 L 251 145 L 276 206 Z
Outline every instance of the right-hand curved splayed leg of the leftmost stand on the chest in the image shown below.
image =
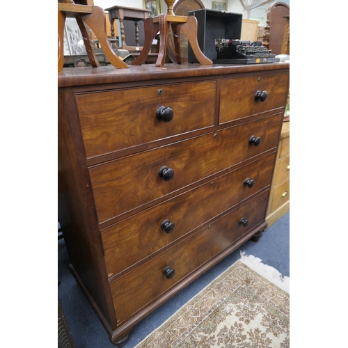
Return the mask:
M 81 19 L 93 30 L 95 36 L 100 42 L 105 56 L 109 59 L 109 62 L 118 69 L 129 68 L 128 65 L 121 61 L 115 52 L 111 49 L 109 40 L 106 36 L 106 19 L 104 10 L 98 6 L 92 6 L 93 13 L 88 15 L 81 15 Z M 101 23 L 104 25 L 102 26 Z

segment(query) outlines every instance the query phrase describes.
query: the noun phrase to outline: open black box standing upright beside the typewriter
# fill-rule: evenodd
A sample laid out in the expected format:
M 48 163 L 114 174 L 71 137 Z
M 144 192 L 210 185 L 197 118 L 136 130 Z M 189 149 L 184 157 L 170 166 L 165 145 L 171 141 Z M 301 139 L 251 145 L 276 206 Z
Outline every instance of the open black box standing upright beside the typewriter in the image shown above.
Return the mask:
M 215 39 L 240 40 L 242 33 L 242 17 L 240 13 L 226 11 L 201 10 L 189 11 L 189 16 L 197 18 L 197 40 L 200 50 L 213 60 L 216 59 Z M 189 63 L 199 63 L 193 54 L 191 45 L 188 45 Z

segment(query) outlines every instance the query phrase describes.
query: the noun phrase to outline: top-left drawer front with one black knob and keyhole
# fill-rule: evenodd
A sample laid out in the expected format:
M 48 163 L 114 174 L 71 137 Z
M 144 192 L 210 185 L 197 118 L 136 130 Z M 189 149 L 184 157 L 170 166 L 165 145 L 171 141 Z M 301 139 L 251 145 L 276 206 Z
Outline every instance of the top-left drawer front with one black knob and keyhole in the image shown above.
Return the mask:
M 86 156 L 212 126 L 215 95 L 216 81 L 76 95 Z M 173 110 L 171 121 L 157 119 L 159 106 Z

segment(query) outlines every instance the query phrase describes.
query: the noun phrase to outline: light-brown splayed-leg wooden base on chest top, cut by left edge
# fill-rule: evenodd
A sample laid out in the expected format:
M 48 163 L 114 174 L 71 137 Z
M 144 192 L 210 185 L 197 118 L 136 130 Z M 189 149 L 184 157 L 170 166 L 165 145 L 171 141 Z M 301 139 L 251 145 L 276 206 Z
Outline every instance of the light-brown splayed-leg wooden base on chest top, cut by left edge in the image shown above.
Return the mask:
M 115 68 L 129 68 L 129 66 L 121 61 L 111 49 L 106 35 L 106 19 L 104 10 L 98 6 L 77 5 L 73 0 L 65 0 L 63 3 L 58 3 L 58 72 L 63 70 L 64 64 L 64 25 L 67 16 L 76 18 L 77 24 L 79 25 L 79 29 L 84 38 L 84 45 L 86 47 L 90 65 L 92 65 L 93 68 L 99 67 L 100 63 L 95 56 L 91 38 L 85 25 L 89 26 L 93 33 L 95 33 L 105 56 Z

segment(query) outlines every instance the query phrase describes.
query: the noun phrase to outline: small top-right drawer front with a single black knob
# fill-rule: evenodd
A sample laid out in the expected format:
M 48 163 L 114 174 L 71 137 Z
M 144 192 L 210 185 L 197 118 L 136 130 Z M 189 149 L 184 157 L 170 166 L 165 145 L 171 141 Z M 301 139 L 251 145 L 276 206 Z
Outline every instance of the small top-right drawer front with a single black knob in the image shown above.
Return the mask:
M 288 85 L 289 74 L 286 73 L 223 79 L 219 124 L 284 107 Z M 264 102 L 255 100 L 258 90 L 267 91 Z

